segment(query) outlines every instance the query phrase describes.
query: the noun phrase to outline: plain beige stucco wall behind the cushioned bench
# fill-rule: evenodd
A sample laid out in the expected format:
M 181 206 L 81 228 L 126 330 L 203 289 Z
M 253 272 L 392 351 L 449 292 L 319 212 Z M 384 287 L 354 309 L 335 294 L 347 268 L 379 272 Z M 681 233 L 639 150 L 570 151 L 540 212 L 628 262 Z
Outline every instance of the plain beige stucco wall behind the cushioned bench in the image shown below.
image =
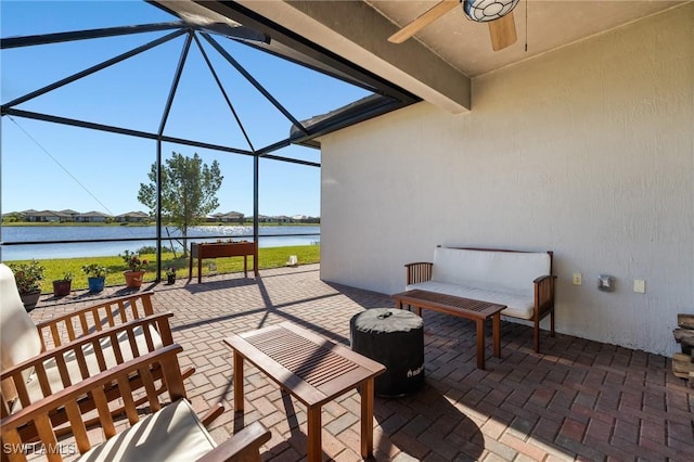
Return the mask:
M 552 249 L 558 332 L 670 355 L 694 312 L 693 56 L 690 4 L 483 76 L 470 114 L 324 137 L 321 277 L 390 294 L 436 244 Z

